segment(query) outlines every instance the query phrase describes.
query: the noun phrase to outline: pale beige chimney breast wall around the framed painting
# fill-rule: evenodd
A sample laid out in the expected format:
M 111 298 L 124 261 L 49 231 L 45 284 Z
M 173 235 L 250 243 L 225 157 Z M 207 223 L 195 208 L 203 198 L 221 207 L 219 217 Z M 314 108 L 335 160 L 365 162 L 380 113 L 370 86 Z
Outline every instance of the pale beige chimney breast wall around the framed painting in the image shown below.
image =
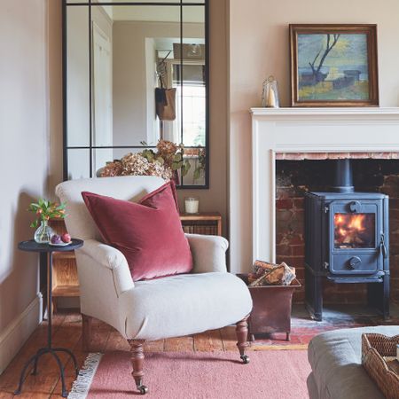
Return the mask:
M 262 81 L 274 74 L 282 106 L 289 105 L 290 23 L 376 23 L 381 106 L 399 105 L 399 2 L 384 0 L 230 0 L 230 215 L 231 270 L 252 262 L 251 125 Z M 268 199 L 265 199 L 267 201 Z

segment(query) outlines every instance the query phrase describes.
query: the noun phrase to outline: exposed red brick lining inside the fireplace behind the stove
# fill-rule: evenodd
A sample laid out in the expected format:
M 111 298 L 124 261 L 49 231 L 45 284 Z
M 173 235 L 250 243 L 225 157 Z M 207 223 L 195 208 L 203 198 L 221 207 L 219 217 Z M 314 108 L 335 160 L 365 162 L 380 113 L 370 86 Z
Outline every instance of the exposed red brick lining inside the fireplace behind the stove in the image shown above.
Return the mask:
M 389 195 L 391 299 L 399 301 L 399 160 L 352 160 L 356 191 Z M 304 193 L 325 191 L 332 181 L 332 160 L 276 160 L 277 261 L 296 268 L 304 301 Z M 324 282 L 325 303 L 365 302 L 365 285 Z

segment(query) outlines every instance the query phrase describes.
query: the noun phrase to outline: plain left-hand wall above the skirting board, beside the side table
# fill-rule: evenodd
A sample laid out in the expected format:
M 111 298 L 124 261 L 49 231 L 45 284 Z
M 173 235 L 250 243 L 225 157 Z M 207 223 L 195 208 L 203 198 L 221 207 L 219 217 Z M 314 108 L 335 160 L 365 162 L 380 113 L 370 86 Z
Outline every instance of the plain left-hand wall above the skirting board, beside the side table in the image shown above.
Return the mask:
M 33 236 L 27 207 L 48 177 L 46 4 L 2 2 L 0 13 L 0 337 L 38 292 L 37 255 L 16 246 Z

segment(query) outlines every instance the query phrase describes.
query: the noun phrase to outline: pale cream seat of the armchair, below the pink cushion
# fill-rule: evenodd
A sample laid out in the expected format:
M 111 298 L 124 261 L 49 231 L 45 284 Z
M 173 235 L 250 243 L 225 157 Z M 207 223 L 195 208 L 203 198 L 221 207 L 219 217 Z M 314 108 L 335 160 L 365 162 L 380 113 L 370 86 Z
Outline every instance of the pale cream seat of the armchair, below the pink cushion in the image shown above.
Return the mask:
M 159 340 L 237 323 L 252 309 L 244 282 L 230 273 L 137 281 L 121 295 L 129 339 Z

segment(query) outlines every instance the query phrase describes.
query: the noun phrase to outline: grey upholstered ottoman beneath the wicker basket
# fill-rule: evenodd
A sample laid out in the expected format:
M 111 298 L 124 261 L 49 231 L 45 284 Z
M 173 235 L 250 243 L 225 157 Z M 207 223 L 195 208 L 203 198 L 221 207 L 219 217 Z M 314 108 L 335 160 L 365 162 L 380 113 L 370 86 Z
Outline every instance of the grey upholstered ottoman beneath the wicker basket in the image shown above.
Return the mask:
M 321 333 L 310 341 L 309 364 L 319 399 L 384 398 L 362 366 L 364 332 L 392 336 L 399 333 L 399 326 L 335 330 Z M 311 397 L 315 397 L 314 392 L 312 394 Z

